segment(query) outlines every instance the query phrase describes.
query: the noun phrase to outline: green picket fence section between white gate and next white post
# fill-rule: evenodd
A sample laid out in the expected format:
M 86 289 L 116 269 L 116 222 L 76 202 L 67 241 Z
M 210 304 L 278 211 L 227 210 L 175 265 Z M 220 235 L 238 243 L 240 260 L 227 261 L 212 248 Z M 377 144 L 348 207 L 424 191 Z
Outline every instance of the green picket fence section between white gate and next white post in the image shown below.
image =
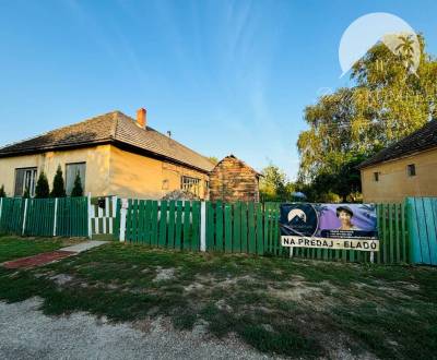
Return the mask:
M 198 251 L 200 202 L 129 200 L 126 241 Z

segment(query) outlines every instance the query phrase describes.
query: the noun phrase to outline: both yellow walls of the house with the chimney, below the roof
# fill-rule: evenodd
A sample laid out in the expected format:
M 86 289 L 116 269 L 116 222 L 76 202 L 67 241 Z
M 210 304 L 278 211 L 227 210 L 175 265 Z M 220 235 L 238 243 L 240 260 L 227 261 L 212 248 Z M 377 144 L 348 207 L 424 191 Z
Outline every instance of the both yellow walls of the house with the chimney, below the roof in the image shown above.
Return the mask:
M 181 176 L 200 179 L 201 199 L 208 193 L 208 175 L 113 145 L 0 158 L 0 185 L 4 185 L 8 196 L 13 196 L 15 169 L 36 167 L 38 176 L 43 170 L 47 175 L 51 189 L 58 165 L 66 175 L 66 165 L 73 163 L 86 163 L 84 192 L 91 192 L 93 196 L 162 199 L 166 193 L 180 189 Z

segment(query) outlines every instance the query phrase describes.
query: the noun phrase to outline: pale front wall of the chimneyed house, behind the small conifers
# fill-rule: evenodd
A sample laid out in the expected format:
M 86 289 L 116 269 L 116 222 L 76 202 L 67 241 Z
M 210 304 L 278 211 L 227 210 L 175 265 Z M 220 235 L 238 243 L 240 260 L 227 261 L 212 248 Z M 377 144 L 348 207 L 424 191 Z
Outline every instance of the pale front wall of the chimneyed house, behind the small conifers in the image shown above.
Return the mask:
M 104 196 L 108 194 L 109 151 L 109 145 L 101 145 L 71 151 L 0 158 L 0 187 L 4 184 L 8 196 L 13 196 L 15 169 L 37 167 L 37 176 L 44 170 L 51 190 L 54 177 L 59 165 L 62 168 L 66 179 L 66 164 L 86 163 L 84 192 Z

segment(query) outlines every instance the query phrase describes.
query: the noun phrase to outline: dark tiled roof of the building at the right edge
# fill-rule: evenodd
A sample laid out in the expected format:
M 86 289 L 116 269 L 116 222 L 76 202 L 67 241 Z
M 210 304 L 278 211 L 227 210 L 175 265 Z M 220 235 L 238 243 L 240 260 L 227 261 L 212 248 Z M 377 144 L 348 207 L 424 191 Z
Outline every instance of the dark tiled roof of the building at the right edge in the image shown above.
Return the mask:
M 397 159 L 433 147 L 437 147 L 437 120 L 429 121 L 422 129 L 383 148 L 369 159 L 359 164 L 358 168 Z

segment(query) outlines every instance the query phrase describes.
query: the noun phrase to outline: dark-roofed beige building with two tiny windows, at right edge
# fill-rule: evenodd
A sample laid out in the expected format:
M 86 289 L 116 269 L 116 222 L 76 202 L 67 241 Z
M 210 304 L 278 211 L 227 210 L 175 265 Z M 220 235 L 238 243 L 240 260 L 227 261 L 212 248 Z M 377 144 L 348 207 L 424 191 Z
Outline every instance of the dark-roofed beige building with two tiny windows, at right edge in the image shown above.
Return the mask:
M 359 165 L 366 203 L 437 196 L 437 120 Z

